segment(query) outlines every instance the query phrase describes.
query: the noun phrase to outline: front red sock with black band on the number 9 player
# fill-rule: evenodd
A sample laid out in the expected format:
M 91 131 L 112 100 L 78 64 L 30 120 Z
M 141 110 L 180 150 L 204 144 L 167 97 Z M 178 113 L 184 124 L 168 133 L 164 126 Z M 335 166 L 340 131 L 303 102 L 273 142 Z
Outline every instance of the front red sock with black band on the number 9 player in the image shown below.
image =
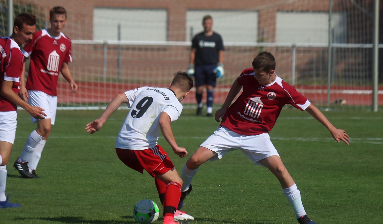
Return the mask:
M 174 212 L 178 207 L 181 197 L 181 184 L 170 182 L 167 184 L 164 199 L 164 219 L 166 217 L 174 217 Z

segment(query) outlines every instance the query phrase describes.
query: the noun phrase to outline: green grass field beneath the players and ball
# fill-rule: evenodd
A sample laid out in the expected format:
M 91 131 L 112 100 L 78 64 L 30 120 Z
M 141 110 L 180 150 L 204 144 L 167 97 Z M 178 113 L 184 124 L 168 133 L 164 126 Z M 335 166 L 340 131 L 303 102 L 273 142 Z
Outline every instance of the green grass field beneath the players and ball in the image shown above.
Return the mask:
M 194 112 L 184 110 L 172 123 L 178 145 L 189 152 L 186 158 L 178 158 L 159 139 L 178 173 L 218 126 L 213 118 Z M 154 179 L 129 169 L 116 156 L 115 137 L 127 111 L 116 111 L 99 132 L 89 135 L 85 124 L 100 114 L 59 110 L 36 171 L 40 179 L 22 179 L 12 165 L 35 125 L 19 111 L 6 194 L 22 207 L 0 210 L 0 223 L 129 224 L 135 223 L 137 201 L 160 204 Z M 284 109 L 270 132 L 306 212 L 318 224 L 383 223 L 383 112 L 324 114 L 350 135 L 349 146 L 336 143 L 318 121 L 297 109 Z M 192 183 L 183 210 L 195 217 L 195 224 L 298 223 L 277 179 L 238 150 L 203 164 Z M 156 223 L 161 221 L 162 209 Z

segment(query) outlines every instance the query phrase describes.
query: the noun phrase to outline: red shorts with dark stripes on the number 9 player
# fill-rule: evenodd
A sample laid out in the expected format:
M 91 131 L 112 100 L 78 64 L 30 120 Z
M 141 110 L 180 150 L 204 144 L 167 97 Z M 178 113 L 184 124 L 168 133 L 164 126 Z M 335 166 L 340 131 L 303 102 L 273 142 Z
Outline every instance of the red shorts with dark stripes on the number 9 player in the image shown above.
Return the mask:
M 153 177 L 174 167 L 167 153 L 159 145 L 144 150 L 116 148 L 116 153 L 125 165 L 140 173 L 144 173 L 145 169 Z

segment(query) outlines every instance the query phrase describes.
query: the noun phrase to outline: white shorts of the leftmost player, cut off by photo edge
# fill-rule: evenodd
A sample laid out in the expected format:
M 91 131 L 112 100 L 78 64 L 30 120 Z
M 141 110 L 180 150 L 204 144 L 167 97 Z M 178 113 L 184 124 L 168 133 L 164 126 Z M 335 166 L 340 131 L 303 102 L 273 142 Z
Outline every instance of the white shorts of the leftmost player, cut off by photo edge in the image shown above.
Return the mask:
M 0 112 L 0 141 L 12 143 L 15 142 L 17 125 L 17 112 Z

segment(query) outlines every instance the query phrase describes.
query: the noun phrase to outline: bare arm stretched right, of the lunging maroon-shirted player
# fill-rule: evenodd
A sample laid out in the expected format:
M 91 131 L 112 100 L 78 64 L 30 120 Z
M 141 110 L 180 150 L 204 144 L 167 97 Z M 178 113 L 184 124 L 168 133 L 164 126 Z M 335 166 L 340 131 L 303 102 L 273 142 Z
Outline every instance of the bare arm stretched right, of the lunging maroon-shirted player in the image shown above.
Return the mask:
M 344 130 L 334 127 L 334 125 L 332 125 L 331 122 L 327 120 L 324 114 L 322 114 L 322 112 L 316 106 L 310 104 L 309 107 L 307 107 L 306 111 L 309 112 L 309 114 L 311 114 L 319 122 L 321 122 L 324 125 L 324 127 L 326 127 L 330 131 L 332 137 L 338 143 L 340 142 L 340 140 L 342 140 L 347 145 L 350 145 L 350 136 L 347 135 Z

